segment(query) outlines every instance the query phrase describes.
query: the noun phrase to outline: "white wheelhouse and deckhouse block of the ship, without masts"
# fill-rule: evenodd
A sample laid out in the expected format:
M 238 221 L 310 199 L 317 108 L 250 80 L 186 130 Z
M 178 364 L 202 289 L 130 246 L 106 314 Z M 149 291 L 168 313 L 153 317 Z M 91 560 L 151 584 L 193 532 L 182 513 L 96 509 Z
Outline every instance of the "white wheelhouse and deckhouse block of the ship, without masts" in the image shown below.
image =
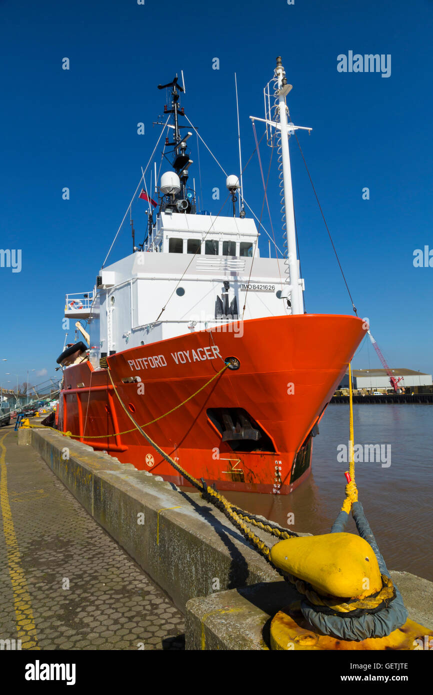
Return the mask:
M 284 259 L 259 257 L 257 238 L 251 219 L 161 212 L 147 250 L 107 265 L 88 293 L 94 366 L 131 347 L 224 325 L 240 333 L 243 318 L 291 313 Z

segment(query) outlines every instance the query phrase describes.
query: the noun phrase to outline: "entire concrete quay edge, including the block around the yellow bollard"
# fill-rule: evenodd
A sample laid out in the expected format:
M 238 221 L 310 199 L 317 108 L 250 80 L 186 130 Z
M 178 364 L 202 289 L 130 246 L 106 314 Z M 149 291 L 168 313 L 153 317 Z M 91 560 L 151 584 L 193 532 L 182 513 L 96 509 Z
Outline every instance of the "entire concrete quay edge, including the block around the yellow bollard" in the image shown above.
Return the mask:
M 223 514 L 197 494 L 53 430 L 19 430 L 18 439 L 31 439 L 87 512 L 186 614 L 188 650 L 268 649 L 270 619 L 300 597 Z M 409 617 L 432 629 L 433 582 L 391 576 Z

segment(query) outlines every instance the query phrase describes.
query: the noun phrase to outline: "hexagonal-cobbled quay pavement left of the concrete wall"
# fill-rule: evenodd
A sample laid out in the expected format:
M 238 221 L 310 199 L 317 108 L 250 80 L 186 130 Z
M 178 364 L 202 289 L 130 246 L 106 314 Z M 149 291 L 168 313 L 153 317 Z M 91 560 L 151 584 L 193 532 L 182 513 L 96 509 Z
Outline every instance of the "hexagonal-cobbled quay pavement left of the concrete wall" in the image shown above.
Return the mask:
M 38 453 L 17 445 L 12 427 L 0 429 L 1 441 L 0 640 L 21 639 L 23 649 L 183 649 L 183 615 L 163 591 Z

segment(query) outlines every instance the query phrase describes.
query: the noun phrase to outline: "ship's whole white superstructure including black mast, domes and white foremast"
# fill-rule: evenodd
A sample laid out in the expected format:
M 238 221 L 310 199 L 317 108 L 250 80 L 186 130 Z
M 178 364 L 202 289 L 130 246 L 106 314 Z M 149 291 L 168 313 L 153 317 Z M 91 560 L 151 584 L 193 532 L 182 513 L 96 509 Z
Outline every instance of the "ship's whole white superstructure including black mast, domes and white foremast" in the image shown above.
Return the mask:
M 90 332 L 90 359 L 99 359 L 131 347 L 227 324 L 242 332 L 242 320 L 303 313 L 303 281 L 300 279 L 293 223 L 293 197 L 288 156 L 290 126 L 286 118 L 284 68 L 277 59 L 275 97 L 277 121 L 267 125 L 279 130 L 284 173 L 288 254 L 286 258 L 261 258 L 259 231 L 254 220 L 243 213 L 236 217 L 238 177 L 227 178 L 233 216 L 196 214 L 195 190 L 187 186 L 192 163 L 179 119 L 180 85 L 174 79 L 172 145 L 175 172 L 164 172 L 158 188 L 156 222 L 150 212 L 149 229 L 139 250 L 107 265 L 97 277 L 92 292 L 67 295 L 65 316 L 86 318 Z M 266 113 L 265 115 L 268 115 Z M 258 119 L 260 120 L 260 119 Z M 293 126 L 293 124 L 290 124 Z M 295 127 L 295 126 L 293 126 Z M 171 131 L 170 131 L 171 132 Z M 143 172 L 144 176 L 144 172 Z M 142 192 L 143 193 L 143 192 Z M 293 283 L 291 283 L 293 277 Z

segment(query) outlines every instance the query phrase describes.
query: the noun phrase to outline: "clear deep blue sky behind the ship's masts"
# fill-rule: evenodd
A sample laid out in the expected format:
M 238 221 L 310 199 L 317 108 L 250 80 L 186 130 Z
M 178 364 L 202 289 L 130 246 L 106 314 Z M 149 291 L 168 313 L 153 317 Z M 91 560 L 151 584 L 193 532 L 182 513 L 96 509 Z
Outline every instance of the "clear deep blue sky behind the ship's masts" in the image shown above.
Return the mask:
M 6 371 L 20 382 L 26 369 L 35 370 L 33 383 L 54 375 L 64 295 L 92 288 L 156 142 L 152 121 L 165 102 L 156 85 L 183 70 L 186 113 L 224 169 L 238 173 L 234 72 L 246 163 L 254 149 L 248 117 L 263 116 L 277 55 L 293 84 L 293 122 L 313 127 L 299 138 L 359 315 L 370 318 L 391 366 L 432 373 L 433 268 L 412 263 L 415 249 L 433 249 L 431 0 L 2 0 L 0 18 L 0 248 L 22 250 L 21 272 L 0 268 L 3 386 L 15 382 Z M 391 76 L 338 72 L 337 56 L 348 51 L 391 54 Z M 266 171 L 269 153 L 263 144 Z M 295 142 L 291 153 L 307 309 L 351 313 Z M 224 190 L 224 176 L 203 148 L 200 163 L 204 207 L 216 213 L 212 189 Z M 256 158 L 244 186 L 260 215 Z M 275 167 L 269 198 L 281 241 Z M 138 238 L 144 209 L 133 206 Z M 131 252 L 127 222 L 111 261 Z M 270 226 L 267 215 L 263 222 Z M 354 365 L 369 360 L 379 366 L 364 345 Z

